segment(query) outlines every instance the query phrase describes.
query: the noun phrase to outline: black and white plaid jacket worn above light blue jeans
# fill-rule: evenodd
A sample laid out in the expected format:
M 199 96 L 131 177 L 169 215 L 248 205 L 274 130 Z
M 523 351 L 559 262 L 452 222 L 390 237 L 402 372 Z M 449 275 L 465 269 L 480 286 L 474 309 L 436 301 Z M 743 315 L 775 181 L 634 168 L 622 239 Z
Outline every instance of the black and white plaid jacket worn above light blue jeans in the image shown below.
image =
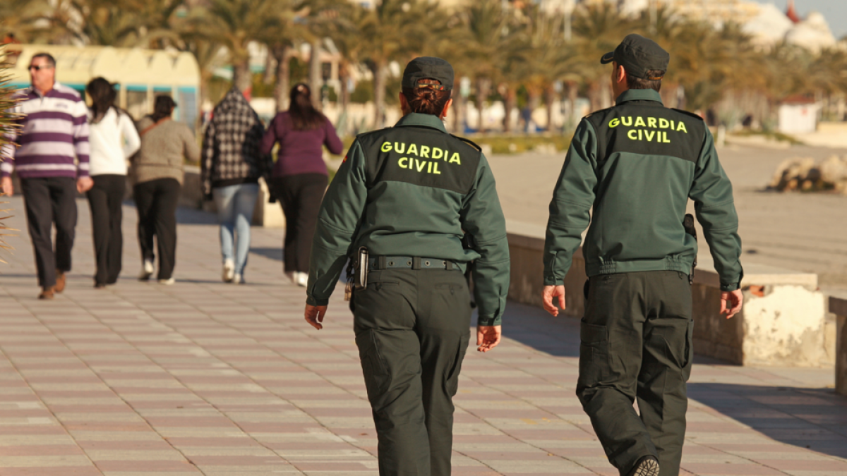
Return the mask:
M 268 178 L 274 163 L 259 151 L 264 126 L 235 86 L 215 106 L 203 135 L 201 178 L 203 196 L 212 195 L 217 180 Z

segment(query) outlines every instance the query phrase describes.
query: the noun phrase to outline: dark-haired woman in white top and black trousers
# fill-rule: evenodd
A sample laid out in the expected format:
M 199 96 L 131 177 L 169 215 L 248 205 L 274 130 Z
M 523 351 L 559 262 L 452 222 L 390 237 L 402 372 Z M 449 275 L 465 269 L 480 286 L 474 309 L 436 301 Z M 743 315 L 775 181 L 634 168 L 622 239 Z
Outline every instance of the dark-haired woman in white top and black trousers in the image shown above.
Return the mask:
M 86 86 L 91 98 L 88 114 L 91 145 L 91 178 L 88 191 L 94 256 L 97 273 L 94 287 L 101 289 L 118 280 L 124 236 L 120 230 L 121 204 L 126 192 L 126 159 L 141 147 L 141 139 L 130 115 L 114 106 L 116 91 L 103 78 L 95 78 Z

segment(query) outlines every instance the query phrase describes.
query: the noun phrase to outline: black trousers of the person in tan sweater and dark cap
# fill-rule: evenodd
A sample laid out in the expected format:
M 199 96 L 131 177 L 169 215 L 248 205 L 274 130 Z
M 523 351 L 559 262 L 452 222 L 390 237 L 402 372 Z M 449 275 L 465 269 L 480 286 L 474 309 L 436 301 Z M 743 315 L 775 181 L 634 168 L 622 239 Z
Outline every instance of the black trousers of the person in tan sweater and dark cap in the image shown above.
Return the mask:
M 176 204 L 180 200 L 180 182 L 157 179 L 133 187 L 138 208 L 138 244 L 141 259 L 153 261 L 153 237 L 156 237 L 158 279 L 169 280 L 176 264 Z

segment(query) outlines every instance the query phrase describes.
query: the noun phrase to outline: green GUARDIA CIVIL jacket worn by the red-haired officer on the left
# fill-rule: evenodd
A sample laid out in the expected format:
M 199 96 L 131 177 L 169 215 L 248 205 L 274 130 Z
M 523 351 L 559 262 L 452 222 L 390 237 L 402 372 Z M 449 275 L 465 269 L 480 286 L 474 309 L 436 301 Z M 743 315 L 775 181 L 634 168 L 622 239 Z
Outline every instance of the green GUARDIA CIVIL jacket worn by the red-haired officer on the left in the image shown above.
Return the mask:
M 462 235 L 473 249 L 462 247 Z M 307 302 L 323 306 L 347 257 L 435 257 L 473 266 L 479 325 L 500 324 L 509 290 L 509 247 L 494 175 L 482 152 L 446 133 L 434 115 L 411 113 L 360 135 L 318 213 Z

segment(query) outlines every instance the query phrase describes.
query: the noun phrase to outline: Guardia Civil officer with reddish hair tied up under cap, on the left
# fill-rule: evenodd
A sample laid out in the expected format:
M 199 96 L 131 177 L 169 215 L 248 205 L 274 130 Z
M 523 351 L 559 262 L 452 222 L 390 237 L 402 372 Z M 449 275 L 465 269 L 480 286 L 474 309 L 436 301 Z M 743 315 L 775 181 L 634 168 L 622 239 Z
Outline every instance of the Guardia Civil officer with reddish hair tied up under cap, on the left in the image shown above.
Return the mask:
M 352 309 L 382 476 L 451 473 L 452 396 L 470 337 L 463 273 L 472 260 L 477 350 L 500 342 L 506 224 L 485 157 L 441 121 L 452 87 L 443 59 L 407 65 L 403 118 L 353 142 L 313 241 L 306 320 L 317 329 L 347 258 L 369 267 Z M 470 248 L 462 246 L 465 233 Z

